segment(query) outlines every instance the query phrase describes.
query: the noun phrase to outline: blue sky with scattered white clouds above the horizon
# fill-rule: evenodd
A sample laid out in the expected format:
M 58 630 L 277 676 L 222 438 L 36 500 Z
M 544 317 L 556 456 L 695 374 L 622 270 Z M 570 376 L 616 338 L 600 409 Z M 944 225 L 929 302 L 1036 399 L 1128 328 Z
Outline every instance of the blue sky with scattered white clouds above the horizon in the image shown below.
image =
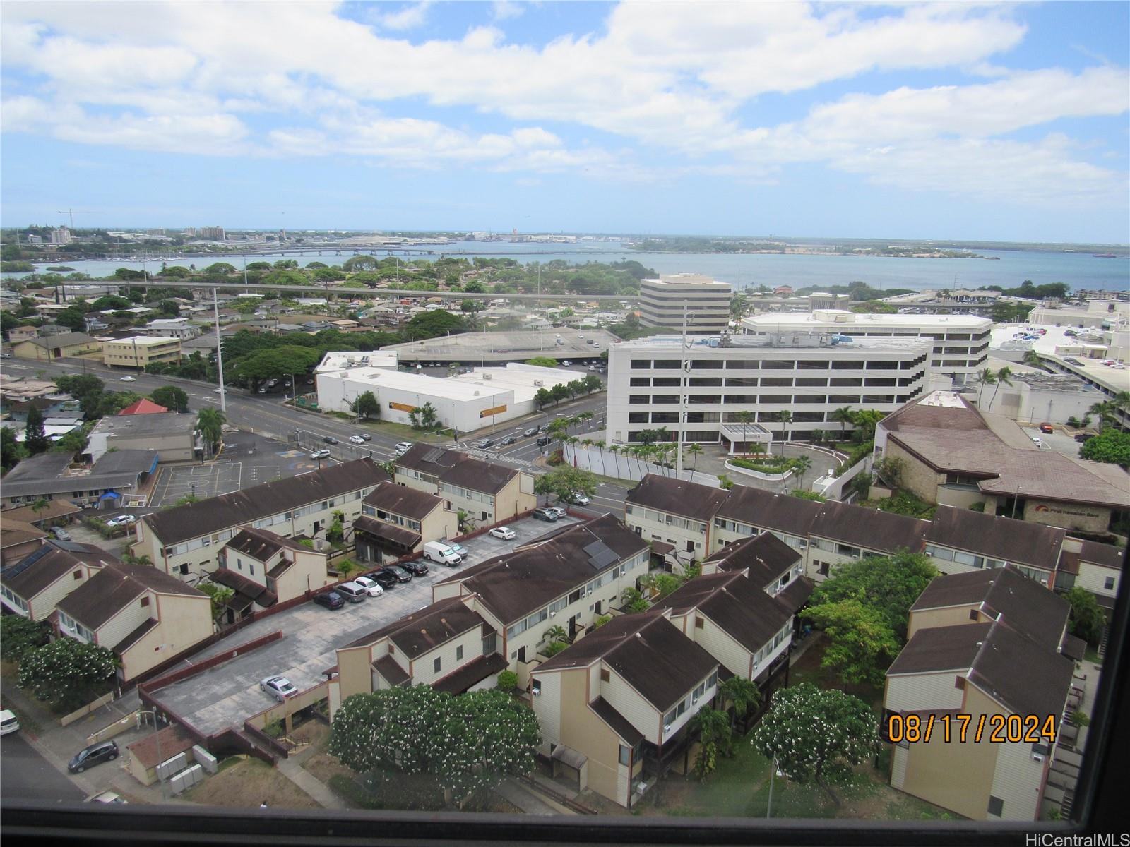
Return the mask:
M 6 2 L 0 211 L 1124 243 L 1128 10 Z

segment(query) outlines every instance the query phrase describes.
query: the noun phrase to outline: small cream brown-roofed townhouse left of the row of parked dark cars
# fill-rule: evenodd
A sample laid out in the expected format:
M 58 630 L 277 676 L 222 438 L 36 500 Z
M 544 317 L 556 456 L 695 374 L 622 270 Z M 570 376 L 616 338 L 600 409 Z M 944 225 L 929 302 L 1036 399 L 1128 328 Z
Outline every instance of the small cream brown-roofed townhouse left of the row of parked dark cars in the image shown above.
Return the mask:
M 301 597 L 336 582 L 327 570 L 328 553 L 294 539 L 244 526 L 220 548 L 208 580 L 232 588 L 225 604 L 229 623 L 253 611 Z

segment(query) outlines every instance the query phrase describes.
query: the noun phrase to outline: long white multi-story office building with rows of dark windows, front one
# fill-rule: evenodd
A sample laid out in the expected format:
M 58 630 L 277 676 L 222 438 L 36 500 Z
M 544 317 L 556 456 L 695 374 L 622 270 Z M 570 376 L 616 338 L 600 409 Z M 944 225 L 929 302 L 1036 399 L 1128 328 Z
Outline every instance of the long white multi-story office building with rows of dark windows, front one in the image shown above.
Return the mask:
M 840 431 L 842 407 L 893 412 L 930 379 L 931 341 L 790 332 L 696 339 L 654 335 L 617 344 L 608 356 L 608 443 L 640 440 L 644 429 L 679 429 L 685 442 L 750 440 L 741 412 L 782 437 Z M 680 396 L 685 402 L 680 402 Z M 781 412 L 792 413 L 791 424 Z

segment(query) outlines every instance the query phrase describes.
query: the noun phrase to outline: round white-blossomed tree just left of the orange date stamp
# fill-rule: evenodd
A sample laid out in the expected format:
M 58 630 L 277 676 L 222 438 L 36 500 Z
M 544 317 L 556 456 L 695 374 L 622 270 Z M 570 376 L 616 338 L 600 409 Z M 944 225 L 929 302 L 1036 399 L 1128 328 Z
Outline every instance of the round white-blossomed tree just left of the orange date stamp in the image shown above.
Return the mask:
M 776 759 L 785 776 L 815 781 L 837 806 L 833 783 L 844 781 L 879 745 L 878 719 L 858 697 L 811 682 L 774 692 L 773 705 L 754 731 L 754 748 Z

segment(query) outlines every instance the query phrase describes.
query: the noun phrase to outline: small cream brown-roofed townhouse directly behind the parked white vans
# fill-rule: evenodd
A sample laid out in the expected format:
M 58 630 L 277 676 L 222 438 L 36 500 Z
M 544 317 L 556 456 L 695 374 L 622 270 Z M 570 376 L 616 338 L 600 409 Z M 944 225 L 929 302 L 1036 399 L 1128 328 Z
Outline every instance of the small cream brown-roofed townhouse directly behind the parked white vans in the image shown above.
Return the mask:
M 360 504 L 354 544 L 360 561 L 382 562 L 419 552 L 428 541 L 459 534 L 459 513 L 442 497 L 382 482 Z

